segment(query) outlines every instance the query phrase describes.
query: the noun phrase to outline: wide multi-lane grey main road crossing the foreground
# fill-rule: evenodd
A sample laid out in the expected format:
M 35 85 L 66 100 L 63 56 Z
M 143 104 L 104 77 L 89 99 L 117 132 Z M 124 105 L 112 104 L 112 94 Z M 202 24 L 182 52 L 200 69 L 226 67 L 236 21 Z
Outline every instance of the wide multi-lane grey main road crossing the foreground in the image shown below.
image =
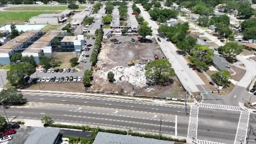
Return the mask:
M 185 106 L 180 105 L 98 97 L 97 95 L 28 92 L 24 94 L 30 101 L 30 105 L 7 109 L 6 112 L 10 119 L 16 116 L 17 119 L 38 120 L 48 114 L 55 122 L 159 133 L 159 118 L 162 116 L 163 134 L 187 137 L 189 107 L 188 115 L 186 115 Z M 3 115 L 3 111 L 0 114 Z M 177 115 L 177 121 L 175 115 Z M 215 141 L 225 142 L 226 140 L 230 143 L 235 139 L 238 119 L 239 113 L 236 112 L 199 108 L 198 138 L 201 140 L 220 138 L 219 141 Z M 177 133 L 175 133 L 176 122 Z

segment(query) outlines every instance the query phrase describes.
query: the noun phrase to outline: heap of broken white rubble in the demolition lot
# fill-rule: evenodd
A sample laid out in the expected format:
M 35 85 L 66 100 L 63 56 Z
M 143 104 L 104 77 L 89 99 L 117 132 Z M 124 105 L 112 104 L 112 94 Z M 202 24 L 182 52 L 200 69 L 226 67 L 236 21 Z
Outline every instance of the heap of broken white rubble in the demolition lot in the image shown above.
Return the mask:
M 114 78 L 116 83 L 126 81 L 134 86 L 145 87 L 147 86 L 145 66 L 146 64 L 137 63 L 131 67 L 116 66 L 109 71 L 112 71 L 115 74 Z M 98 76 L 107 80 L 109 71 L 99 70 L 97 71 Z

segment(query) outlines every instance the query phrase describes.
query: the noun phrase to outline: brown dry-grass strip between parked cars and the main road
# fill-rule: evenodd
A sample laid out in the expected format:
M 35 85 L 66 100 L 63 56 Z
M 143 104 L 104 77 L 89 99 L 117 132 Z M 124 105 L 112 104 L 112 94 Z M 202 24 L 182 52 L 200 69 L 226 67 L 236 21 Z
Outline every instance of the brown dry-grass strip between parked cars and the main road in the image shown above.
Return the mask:
M 65 92 L 84 92 L 83 83 L 40 83 L 41 90 L 44 91 L 65 91 Z M 39 90 L 39 85 L 34 84 L 26 90 Z

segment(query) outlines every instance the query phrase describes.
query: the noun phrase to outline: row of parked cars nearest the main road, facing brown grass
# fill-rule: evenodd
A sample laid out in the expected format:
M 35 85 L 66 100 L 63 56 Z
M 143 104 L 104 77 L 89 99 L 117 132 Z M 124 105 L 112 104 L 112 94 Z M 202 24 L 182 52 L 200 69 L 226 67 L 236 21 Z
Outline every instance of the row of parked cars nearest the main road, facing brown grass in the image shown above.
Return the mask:
M 39 77 L 37 82 L 81 82 L 82 77 L 78 76 L 66 76 L 66 77 Z

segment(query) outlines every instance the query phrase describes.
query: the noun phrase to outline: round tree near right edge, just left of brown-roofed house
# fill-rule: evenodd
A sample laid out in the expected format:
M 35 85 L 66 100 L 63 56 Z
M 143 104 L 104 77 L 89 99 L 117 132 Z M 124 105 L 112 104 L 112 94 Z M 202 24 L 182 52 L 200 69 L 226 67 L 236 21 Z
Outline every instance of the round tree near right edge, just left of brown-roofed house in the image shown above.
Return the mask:
M 228 57 L 230 60 L 236 58 L 236 55 L 240 54 L 243 51 L 243 45 L 239 45 L 236 42 L 226 43 L 224 46 L 220 46 L 218 51 L 222 52 L 225 57 Z

